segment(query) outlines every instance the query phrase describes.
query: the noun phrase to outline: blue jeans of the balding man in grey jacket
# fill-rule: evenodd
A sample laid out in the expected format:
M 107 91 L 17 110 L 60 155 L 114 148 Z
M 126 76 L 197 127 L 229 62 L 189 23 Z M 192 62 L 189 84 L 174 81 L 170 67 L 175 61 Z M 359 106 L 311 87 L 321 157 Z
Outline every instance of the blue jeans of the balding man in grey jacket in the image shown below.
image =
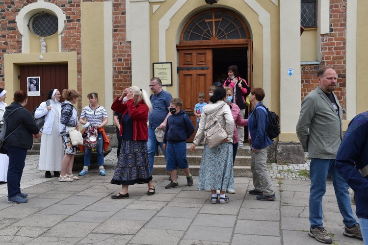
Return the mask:
M 323 227 L 322 197 L 326 193 L 327 174 L 331 175 L 335 196 L 338 202 L 342 222 L 346 226 L 358 223 L 353 215 L 350 204 L 349 186 L 340 173 L 335 170 L 335 159 L 311 158 L 310 164 L 311 190 L 309 194 L 309 221 L 311 228 Z

